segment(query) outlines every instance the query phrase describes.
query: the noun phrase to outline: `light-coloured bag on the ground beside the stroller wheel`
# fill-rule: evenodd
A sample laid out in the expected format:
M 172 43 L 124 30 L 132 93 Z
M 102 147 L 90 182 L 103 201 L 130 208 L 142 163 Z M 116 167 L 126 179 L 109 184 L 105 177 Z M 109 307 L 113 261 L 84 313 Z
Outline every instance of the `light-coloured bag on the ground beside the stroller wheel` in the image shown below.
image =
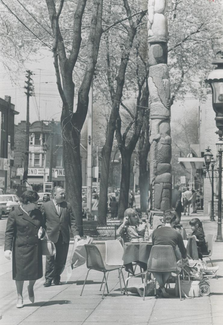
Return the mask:
M 199 297 L 201 294 L 200 281 L 180 280 L 181 295 L 186 298 Z M 179 296 L 178 281 L 175 284 L 175 295 Z

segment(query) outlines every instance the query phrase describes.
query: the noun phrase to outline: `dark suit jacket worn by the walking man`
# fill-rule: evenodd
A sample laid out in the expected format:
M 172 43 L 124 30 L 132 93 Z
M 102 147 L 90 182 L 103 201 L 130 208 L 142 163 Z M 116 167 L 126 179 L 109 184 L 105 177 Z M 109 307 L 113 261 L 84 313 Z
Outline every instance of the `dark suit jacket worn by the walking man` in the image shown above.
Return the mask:
M 53 201 L 43 203 L 40 211 L 46 223 L 47 235 L 54 243 L 58 241 L 60 231 L 63 241 L 66 243 L 70 241 L 69 226 L 73 236 L 79 235 L 70 203 L 66 201 L 61 202 L 59 214 Z

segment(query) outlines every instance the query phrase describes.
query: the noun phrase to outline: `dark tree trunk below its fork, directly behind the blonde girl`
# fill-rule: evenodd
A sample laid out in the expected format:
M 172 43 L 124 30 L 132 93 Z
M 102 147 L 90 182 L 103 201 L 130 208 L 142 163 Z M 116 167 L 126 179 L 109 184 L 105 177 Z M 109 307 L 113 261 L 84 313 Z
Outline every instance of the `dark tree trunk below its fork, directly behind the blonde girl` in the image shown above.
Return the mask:
M 134 149 L 133 149 L 134 150 Z M 132 151 L 123 149 L 121 165 L 121 185 L 118 202 L 118 218 L 123 219 L 125 210 L 128 208 L 129 182 L 130 182 L 130 165 Z

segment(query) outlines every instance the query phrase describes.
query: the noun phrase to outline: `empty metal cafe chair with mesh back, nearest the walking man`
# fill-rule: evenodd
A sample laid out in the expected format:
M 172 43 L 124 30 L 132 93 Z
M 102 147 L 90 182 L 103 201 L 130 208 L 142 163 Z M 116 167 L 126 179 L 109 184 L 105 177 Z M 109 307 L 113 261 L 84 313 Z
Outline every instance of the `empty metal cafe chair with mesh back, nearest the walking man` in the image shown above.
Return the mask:
M 103 289 L 103 292 L 102 292 L 102 299 L 104 297 L 105 287 L 107 288 L 107 292 L 109 293 L 108 285 L 107 285 L 109 272 L 114 271 L 114 270 L 118 270 L 120 289 L 121 289 L 121 277 L 120 277 L 120 274 L 122 275 L 122 279 L 123 279 L 124 286 L 125 286 L 125 279 L 124 279 L 124 276 L 123 276 L 123 273 L 122 273 L 122 265 L 121 266 L 120 265 L 104 265 L 104 262 L 103 262 L 102 257 L 101 257 L 101 253 L 99 252 L 98 247 L 95 246 L 95 245 L 87 245 L 86 244 L 85 249 L 86 249 L 86 254 L 87 254 L 86 266 L 88 268 L 88 271 L 87 271 L 87 274 L 86 274 L 85 282 L 84 282 L 83 288 L 81 290 L 80 296 L 82 295 L 82 292 L 84 290 L 86 279 L 87 279 L 87 276 L 88 276 L 88 273 L 89 273 L 90 270 L 96 270 L 96 271 L 104 273 L 104 277 L 103 277 L 101 287 L 100 287 L 100 291 L 101 291 L 103 281 L 105 279 L 105 285 L 104 285 L 104 289 Z M 121 291 L 122 291 L 122 289 L 121 289 Z M 128 295 L 126 286 L 125 286 L 125 291 L 126 291 L 126 294 Z

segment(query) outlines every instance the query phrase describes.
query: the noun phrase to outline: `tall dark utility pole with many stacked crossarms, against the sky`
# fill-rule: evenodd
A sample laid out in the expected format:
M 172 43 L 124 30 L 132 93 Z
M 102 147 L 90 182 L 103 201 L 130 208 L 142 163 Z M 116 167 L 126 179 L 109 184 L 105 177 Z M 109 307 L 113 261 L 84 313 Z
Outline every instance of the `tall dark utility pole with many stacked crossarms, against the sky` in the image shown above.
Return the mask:
M 28 178 L 28 168 L 29 168 L 29 133 L 30 133 L 30 120 L 29 120 L 29 98 L 33 96 L 33 85 L 32 85 L 32 78 L 33 72 L 30 70 L 26 70 L 27 81 L 25 83 L 27 86 L 24 88 L 26 89 L 25 94 L 27 97 L 26 100 L 26 141 L 25 141 L 25 157 L 24 157 L 24 170 L 23 170 L 23 178 L 22 182 L 24 183 L 25 180 Z

